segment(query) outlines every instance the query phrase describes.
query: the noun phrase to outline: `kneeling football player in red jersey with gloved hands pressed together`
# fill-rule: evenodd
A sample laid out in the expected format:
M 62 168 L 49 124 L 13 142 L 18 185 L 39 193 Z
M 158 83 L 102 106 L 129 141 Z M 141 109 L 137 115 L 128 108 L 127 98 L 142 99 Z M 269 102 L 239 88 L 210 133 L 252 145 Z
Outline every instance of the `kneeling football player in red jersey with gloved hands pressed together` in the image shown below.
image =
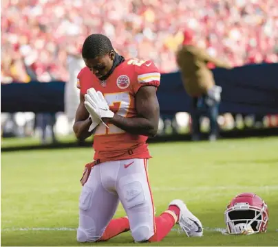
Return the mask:
M 74 132 L 78 139 L 94 134 L 95 153 L 81 179 L 78 242 L 105 241 L 129 230 L 135 242 L 158 242 L 177 223 L 187 236 L 202 236 L 200 220 L 181 200 L 154 215 L 146 141 L 158 131 L 155 64 L 125 60 L 101 34 L 86 38 L 82 56 Z M 127 217 L 112 220 L 119 202 Z

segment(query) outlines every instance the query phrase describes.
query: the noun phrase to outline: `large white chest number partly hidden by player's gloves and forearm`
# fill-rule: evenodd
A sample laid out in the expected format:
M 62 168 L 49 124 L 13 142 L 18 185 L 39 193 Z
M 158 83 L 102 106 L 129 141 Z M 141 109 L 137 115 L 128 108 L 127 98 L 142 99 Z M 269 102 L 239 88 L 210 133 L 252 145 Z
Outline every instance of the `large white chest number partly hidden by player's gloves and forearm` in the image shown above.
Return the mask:
M 118 110 L 116 110 L 115 112 L 116 114 L 122 117 L 127 117 L 127 113 L 129 112 L 129 106 L 131 102 L 129 92 L 107 93 L 104 96 L 109 107 L 118 108 Z M 108 126 L 109 128 L 106 128 L 104 124 L 100 124 L 96 128 L 96 132 L 94 133 L 94 135 L 125 133 L 125 130 L 122 130 L 117 126 L 114 126 L 114 124 L 108 124 Z

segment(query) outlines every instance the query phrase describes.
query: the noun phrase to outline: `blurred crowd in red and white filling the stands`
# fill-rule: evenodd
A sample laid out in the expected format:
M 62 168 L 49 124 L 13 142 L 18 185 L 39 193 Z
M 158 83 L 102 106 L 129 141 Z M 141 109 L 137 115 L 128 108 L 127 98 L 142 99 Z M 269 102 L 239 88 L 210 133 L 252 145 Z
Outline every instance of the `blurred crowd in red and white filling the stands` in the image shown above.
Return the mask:
M 278 62 L 277 0 L 3 0 L 1 82 L 67 81 L 68 55 L 92 33 L 177 71 L 184 30 L 233 66 Z

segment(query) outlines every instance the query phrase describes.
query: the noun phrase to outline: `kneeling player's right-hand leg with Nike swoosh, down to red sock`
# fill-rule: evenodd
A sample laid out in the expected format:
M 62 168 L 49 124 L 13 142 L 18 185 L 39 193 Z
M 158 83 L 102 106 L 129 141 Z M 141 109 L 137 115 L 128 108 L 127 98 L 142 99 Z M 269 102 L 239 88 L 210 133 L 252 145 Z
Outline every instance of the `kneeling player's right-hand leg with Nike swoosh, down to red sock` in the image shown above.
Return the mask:
M 155 217 L 147 159 L 122 161 L 116 188 L 135 242 L 157 242 L 171 231 L 178 216 L 168 209 Z

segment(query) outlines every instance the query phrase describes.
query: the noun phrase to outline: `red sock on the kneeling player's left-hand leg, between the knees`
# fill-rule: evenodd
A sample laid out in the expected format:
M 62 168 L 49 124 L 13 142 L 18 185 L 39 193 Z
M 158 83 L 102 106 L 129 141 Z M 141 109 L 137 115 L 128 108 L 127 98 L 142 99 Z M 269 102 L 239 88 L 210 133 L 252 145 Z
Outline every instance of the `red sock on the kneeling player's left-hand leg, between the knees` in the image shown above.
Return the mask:
M 100 237 L 98 241 L 106 241 L 108 239 L 111 239 L 111 237 L 119 235 L 120 233 L 129 231 L 129 229 L 130 226 L 127 217 L 121 217 L 118 219 L 111 220 L 111 222 L 109 222 L 107 228 L 105 229 L 103 236 Z

